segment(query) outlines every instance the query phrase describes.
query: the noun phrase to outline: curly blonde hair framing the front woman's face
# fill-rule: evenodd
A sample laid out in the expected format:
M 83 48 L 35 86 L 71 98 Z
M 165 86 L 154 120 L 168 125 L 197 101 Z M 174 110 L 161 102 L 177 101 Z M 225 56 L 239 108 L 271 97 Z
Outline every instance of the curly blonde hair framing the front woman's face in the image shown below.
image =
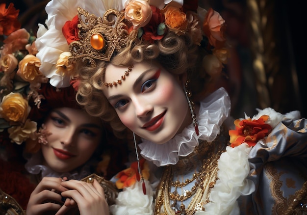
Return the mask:
M 126 127 L 102 92 L 105 87 L 103 78 L 108 63 L 128 67 L 133 62 L 156 60 L 172 74 L 180 75 L 187 72 L 190 80 L 189 90 L 197 95 L 205 90 L 205 83 L 212 78 L 202 68 L 202 59 L 205 54 L 201 47 L 192 44 L 187 35 L 178 36 L 169 32 L 162 40 L 157 40 L 154 44 L 136 38 L 125 50 L 113 56 L 110 62 L 97 62 L 94 68 L 77 67 L 80 68 L 77 102 L 84 106 L 90 115 L 99 116 L 102 120 L 109 122 L 116 136 L 124 137 Z

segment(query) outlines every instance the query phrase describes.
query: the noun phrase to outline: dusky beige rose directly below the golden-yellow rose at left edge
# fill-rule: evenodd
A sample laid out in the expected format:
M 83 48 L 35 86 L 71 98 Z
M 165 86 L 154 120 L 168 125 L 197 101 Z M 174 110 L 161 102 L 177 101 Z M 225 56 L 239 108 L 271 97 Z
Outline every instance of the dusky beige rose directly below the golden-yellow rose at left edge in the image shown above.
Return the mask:
M 36 135 L 36 126 L 37 123 L 30 121 L 29 119 L 26 120 L 25 125 L 22 126 L 13 126 L 9 128 L 7 131 L 10 134 L 9 138 L 17 143 L 17 144 L 22 144 L 26 139 L 30 138 L 35 139 Z

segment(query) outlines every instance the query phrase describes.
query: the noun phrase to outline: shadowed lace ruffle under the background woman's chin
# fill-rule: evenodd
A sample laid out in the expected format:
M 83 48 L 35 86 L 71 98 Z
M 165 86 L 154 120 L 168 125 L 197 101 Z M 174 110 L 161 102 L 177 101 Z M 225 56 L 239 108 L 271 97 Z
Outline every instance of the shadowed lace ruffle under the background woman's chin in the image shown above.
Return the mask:
M 26 162 L 26 170 L 31 174 L 39 174 L 41 173 L 42 178 L 45 176 L 48 177 L 57 177 L 57 178 L 63 178 L 67 177 L 68 179 L 75 179 L 75 180 L 81 180 L 82 178 L 85 178 L 86 176 L 90 175 L 90 162 L 87 162 L 85 165 L 82 166 L 81 169 L 75 170 L 73 172 L 55 172 L 50 167 L 42 165 L 43 158 L 42 154 L 40 152 L 26 156 L 27 162 Z

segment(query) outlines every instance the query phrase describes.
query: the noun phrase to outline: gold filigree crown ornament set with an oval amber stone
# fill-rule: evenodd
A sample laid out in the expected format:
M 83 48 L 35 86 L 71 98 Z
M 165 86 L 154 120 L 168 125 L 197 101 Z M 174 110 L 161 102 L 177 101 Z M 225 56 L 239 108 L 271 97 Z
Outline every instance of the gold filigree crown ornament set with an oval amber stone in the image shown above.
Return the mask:
M 70 61 L 82 59 L 83 62 L 95 67 L 94 59 L 110 61 L 115 51 L 120 52 L 137 35 L 136 30 L 129 32 L 132 23 L 125 19 L 123 11 L 110 9 L 103 17 L 97 17 L 80 7 L 77 10 L 80 40 L 69 45 L 72 53 Z

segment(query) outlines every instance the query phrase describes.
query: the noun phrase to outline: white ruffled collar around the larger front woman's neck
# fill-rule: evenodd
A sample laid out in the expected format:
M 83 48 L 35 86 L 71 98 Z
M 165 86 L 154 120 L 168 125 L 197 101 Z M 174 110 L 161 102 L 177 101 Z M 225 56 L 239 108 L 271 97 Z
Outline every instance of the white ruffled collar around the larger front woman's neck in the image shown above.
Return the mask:
M 157 166 L 176 164 L 179 156 L 185 157 L 194 151 L 199 140 L 212 142 L 229 115 L 230 98 L 226 90 L 221 87 L 201 102 L 197 114 L 199 136 L 191 124 L 164 144 L 155 144 L 142 138 L 143 142 L 139 144 L 141 155 Z

